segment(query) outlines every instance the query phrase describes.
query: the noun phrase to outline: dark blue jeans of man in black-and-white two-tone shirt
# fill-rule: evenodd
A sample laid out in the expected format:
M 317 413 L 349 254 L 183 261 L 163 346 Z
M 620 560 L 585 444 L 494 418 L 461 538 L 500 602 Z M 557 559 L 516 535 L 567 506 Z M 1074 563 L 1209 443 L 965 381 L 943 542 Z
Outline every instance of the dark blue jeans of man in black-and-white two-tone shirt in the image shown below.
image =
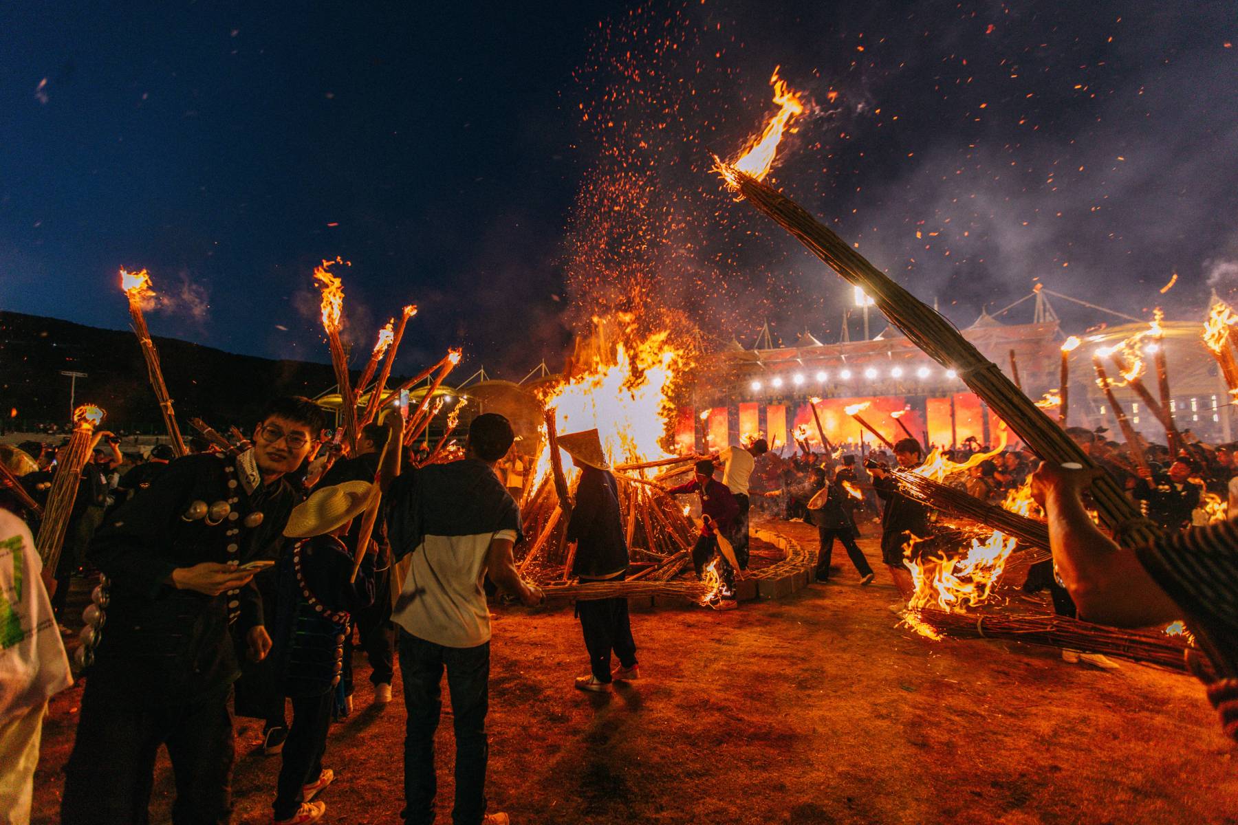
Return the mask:
M 485 818 L 485 737 L 489 709 L 490 643 L 443 647 L 400 628 L 400 673 L 407 722 L 404 737 L 404 821 L 432 825 L 435 794 L 435 731 L 442 710 L 443 669 L 452 696 L 456 730 L 456 825 L 480 825 Z

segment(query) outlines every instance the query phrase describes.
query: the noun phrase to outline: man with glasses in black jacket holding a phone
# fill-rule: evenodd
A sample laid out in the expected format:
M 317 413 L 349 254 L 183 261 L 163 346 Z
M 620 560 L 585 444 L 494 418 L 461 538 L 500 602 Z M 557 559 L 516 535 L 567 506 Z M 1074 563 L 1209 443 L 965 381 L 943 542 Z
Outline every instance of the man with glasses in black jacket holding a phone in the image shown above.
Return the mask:
M 229 821 L 232 633 L 255 660 L 271 647 L 251 579 L 274 563 L 300 498 L 284 476 L 322 427 L 308 398 L 276 398 L 251 448 L 172 461 L 95 536 L 89 558 L 105 576 L 95 595 L 105 618 L 84 648 L 93 662 L 62 821 L 146 823 L 160 745 L 176 774 L 172 821 Z

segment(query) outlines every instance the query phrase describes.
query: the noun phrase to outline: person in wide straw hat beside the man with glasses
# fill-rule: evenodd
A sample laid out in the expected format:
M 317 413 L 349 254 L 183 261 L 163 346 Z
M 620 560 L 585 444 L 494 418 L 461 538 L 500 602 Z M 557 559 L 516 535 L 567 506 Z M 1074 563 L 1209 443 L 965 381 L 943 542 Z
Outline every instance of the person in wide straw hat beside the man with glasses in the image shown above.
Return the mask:
M 369 481 L 321 487 L 293 508 L 284 528 L 295 542 L 276 571 L 279 612 L 271 659 L 276 684 L 292 700 L 292 725 L 272 805 L 279 825 L 316 823 L 327 810 L 314 797 L 335 778 L 322 759 L 344 636 L 352 615 L 374 602 L 376 555 L 376 544 L 368 542 L 350 583 L 353 558 L 340 539 L 365 512 L 373 489 Z

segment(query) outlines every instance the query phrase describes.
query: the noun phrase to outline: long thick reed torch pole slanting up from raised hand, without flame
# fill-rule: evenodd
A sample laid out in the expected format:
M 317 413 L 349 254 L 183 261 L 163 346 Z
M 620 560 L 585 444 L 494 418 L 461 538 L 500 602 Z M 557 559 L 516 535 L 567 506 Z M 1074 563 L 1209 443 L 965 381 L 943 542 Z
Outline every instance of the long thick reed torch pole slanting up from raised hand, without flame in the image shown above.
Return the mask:
M 980 355 L 954 327 L 873 266 L 829 228 L 818 223 L 799 204 L 771 186 L 724 167 L 724 173 L 756 210 L 786 229 L 813 255 L 828 263 L 847 282 L 874 298 L 877 307 L 909 340 L 938 364 L 953 369 L 977 396 L 992 407 L 1031 449 L 1046 461 L 1096 463 L 1044 413 L 1031 398 L 1006 378 L 995 364 Z M 1138 545 L 1162 529 L 1141 518 L 1118 482 L 1102 476 L 1092 485 L 1092 496 L 1102 521 L 1123 544 Z

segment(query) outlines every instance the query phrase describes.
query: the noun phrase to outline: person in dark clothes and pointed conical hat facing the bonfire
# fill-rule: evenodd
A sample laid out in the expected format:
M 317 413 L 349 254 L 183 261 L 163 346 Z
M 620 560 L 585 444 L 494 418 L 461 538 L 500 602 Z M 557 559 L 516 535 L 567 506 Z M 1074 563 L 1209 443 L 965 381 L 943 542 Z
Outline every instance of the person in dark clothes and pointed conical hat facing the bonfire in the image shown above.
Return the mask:
M 571 575 L 587 581 L 621 581 L 628 573 L 628 542 L 619 513 L 615 477 L 602 454 L 598 430 L 561 435 L 558 445 L 581 470 L 572 517 L 567 522 L 567 541 L 576 544 Z M 584 647 L 589 652 L 592 673 L 577 677 L 579 690 L 603 693 L 612 680 L 640 678 L 636 667 L 636 642 L 631 637 L 628 599 L 593 599 L 576 602 Z M 610 670 L 612 652 L 619 668 Z

